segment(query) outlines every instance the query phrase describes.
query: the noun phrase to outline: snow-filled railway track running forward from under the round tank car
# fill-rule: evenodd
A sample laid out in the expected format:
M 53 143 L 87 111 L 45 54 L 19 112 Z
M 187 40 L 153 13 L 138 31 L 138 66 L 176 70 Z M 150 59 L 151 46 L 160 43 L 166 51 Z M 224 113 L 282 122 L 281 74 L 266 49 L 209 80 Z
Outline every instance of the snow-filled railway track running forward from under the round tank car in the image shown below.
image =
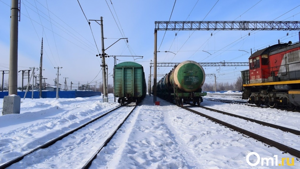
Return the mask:
M 296 142 L 299 140 L 300 131 L 202 106 L 193 108 L 183 106 L 182 108 L 200 116 L 204 116 L 211 121 L 219 123 L 220 125 L 224 125 L 232 130 L 238 131 L 245 137 L 252 137 L 258 141 L 268 144 L 269 146 L 276 147 L 283 153 L 289 153 L 297 158 L 300 158 L 300 143 Z M 199 111 L 203 111 L 204 108 L 210 110 L 210 112 L 200 113 Z M 250 124 L 249 121 L 253 123 Z M 282 131 L 278 131 L 278 129 Z M 274 137 L 280 139 L 272 140 Z

